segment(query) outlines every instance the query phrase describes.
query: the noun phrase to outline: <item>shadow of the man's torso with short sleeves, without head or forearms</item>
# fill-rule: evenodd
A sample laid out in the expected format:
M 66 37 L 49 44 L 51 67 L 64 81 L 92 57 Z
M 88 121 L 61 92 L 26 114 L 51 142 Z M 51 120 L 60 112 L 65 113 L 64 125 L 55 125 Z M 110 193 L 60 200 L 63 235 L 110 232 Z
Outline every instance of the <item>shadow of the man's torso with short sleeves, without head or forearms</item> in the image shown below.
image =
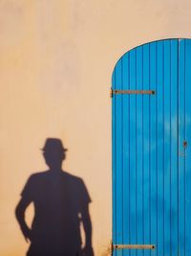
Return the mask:
M 22 197 L 32 200 L 32 244 L 28 256 L 80 254 L 80 217 L 91 201 L 83 180 L 65 172 L 34 174 Z

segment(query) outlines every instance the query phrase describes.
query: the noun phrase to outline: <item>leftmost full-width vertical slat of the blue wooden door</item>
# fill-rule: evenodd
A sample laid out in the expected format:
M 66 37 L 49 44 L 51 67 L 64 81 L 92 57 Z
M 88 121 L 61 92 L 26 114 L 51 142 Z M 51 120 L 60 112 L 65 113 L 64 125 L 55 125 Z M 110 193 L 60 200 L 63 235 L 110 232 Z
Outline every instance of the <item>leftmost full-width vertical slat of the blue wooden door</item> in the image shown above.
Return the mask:
M 116 84 L 117 89 L 122 89 L 121 87 L 121 59 L 117 62 L 116 67 Z M 116 205 L 117 205 L 117 244 L 122 244 L 122 95 L 117 95 L 116 97 L 116 166 L 117 166 L 117 175 L 116 175 Z M 117 251 L 117 256 L 122 255 L 122 251 Z

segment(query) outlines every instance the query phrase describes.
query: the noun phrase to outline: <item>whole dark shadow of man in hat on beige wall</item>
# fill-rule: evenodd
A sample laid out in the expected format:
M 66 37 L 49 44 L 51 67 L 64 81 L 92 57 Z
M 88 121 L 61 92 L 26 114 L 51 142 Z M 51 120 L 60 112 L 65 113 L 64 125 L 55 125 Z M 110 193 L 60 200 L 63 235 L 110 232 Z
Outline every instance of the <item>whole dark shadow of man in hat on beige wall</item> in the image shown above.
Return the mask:
M 88 205 L 91 202 L 81 178 L 62 170 L 66 157 L 61 140 L 48 138 L 42 149 L 49 170 L 31 175 L 15 209 L 26 241 L 31 241 L 27 256 L 93 256 L 92 224 Z M 25 211 L 34 204 L 30 229 Z M 85 233 L 82 248 L 80 223 Z

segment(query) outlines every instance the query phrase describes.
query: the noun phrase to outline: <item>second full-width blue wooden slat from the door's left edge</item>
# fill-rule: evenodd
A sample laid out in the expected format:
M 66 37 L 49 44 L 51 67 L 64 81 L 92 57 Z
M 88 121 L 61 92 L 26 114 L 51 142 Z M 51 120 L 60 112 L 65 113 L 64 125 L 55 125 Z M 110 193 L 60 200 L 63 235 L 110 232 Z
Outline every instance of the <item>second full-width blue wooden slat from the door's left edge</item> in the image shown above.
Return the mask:
M 122 83 L 123 89 L 129 89 L 129 54 L 123 56 Z M 129 244 L 129 95 L 123 95 L 123 244 Z M 123 251 L 124 256 L 129 256 L 129 250 Z

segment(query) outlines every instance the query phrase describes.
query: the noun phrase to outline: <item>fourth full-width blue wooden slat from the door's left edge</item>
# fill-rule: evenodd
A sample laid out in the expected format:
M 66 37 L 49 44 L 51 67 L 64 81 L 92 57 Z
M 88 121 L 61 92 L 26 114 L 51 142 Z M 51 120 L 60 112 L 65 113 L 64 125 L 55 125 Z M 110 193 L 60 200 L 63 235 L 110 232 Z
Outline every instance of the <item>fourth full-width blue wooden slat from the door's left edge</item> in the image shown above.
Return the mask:
M 137 49 L 137 89 L 142 90 L 142 47 Z M 142 175 L 142 141 L 143 141 L 143 131 L 142 131 L 142 104 L 143 104 L 143 95 L 137 96 L 137 147 L 138 147 L 138 161 L 137 161 L 137 223 L 138 223 L 138 244 L 143 244 L 143 175 Z M 138 256 L 143 256 L 143 250 L 138 250 Z

